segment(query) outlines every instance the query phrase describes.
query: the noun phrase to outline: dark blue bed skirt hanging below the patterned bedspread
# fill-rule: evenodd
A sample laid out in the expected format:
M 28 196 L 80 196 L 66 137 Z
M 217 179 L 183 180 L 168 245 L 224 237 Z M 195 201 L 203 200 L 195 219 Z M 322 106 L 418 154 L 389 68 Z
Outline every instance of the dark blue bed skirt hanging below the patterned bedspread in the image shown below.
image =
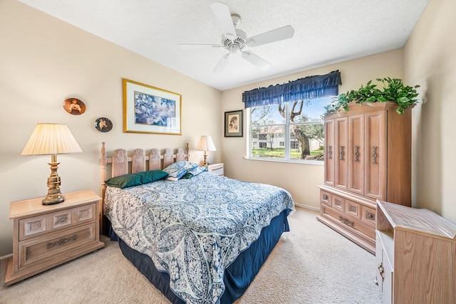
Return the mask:
M 237 259 L 231 263 L 224 272 L 225 290 L 220 298 L 221 304 L 234 303 L 235 300 L 244 294 L 245 290 L 252 283 L 259 269 L 268 258 L 280 236 L 285 231 L 290 231 L 287 216 L 290 210 L 286 209 L 271 220 L 269 226 L 261 230 L 257 241 L 245 251 L 239 254 Z M 120 250 L 133 265 L 160 290 L 168 300 L 175 304 L 183 304 L 184 300 L 177 297 L 170 289 L 170 275 L 157 271 L 152 259 L 139 251 L 130 248 L 115 232 L 110 229 L 110 222 L 104 218 L 103 231 L 109 231 L 108 236 L 112 241 L 118 241 Z

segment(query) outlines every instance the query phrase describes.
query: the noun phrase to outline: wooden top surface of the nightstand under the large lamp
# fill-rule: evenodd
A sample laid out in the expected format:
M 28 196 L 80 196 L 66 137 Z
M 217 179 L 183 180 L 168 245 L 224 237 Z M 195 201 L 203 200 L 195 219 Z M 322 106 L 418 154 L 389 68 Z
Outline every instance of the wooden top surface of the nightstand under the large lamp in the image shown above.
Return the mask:
M 95 192 L 88 189 L 64 193 L 63 196 L 65 197 L 65 201 L 53 205 L 43 205 L 41 201 L 44 196 L 36 197 L 34 199 L 24 199 L 21 201 L 11 201 L 9 218 L 16 219 L 23 218 L 25 216 L 34 216 L 101 199 L 101 197 L 95 194 Z

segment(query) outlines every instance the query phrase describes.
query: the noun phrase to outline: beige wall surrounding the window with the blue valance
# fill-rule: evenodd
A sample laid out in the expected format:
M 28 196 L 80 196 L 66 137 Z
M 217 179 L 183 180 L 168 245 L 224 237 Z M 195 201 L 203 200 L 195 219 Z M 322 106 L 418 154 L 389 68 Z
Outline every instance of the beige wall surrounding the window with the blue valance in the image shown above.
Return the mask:
M 244 85 L 232 90 L 225 90 L 222 92 L 222 113 L 220 117 L 223 120 L 223 112 L 244 108 L 242 92 L 246 90 L 267 87 L 277 83 L 287 83 L 290 80 L 310 75 L 323 75 L 332 70 L 341 71 L 342 85 L 339 88 L 339 93 L 357 89 L 360 85 L 366 84 L 368 80 L 375 80 L 375 78 L 403 78 L 403 50 L 398 49 L 380 53 L 251 85 Z M 246 126 L 245 116 L 244 131 Z M 247 137 L 245 135 L 244 137 L 222 137 L 222 159 L 225 164 L 225 172 L 227 172 L 229 177 L 283 187 L 291 193 L 296 204 L 310 209 L 319 209 L 318 185 L 323 183 L 323 164 L 297 164 L 245 159 L 244 157 L 247 156 L 246 141 Z

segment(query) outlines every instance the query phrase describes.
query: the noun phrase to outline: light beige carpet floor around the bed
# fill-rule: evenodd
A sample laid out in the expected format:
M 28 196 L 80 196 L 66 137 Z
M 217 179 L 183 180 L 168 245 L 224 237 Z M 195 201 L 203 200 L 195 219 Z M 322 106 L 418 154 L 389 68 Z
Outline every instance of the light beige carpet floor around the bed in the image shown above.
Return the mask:
M 236 304 L 381 303 L 371 253 L 297 207 L 246 293 Z M 122 255 L 118 243 L 102 236 L 105 248 L 32 278 L 3 286 L 0 303 L 169 304 Z

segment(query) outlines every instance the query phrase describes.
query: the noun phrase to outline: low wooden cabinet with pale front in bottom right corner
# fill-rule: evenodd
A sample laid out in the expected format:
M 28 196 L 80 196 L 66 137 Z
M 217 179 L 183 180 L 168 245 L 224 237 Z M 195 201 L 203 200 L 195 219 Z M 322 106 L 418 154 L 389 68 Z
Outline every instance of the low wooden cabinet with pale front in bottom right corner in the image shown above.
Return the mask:
M 456 224 L 427 209 L 377 204 L 383 303 L 456 303 Z

